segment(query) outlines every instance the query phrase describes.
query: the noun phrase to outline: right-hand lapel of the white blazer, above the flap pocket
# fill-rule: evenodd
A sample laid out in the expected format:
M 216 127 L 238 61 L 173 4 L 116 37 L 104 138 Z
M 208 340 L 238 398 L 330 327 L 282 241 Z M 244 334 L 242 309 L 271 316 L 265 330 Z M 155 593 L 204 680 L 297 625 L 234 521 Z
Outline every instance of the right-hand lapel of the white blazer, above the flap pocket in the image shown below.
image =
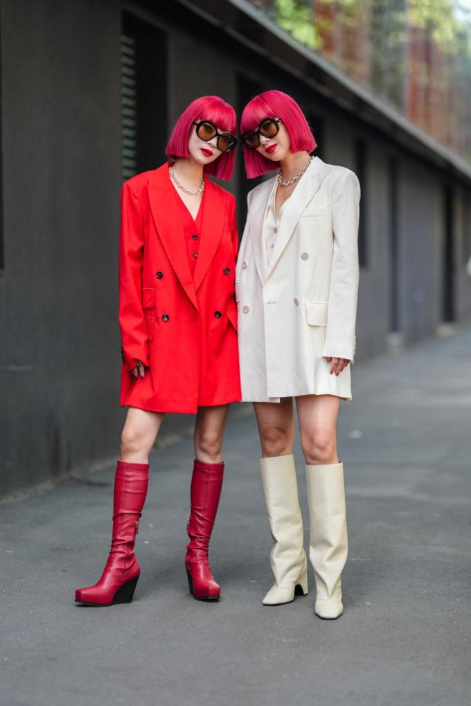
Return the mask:
M 276 263 L 280 259 L 282 252 L 290 242 L 294 229 L 297 226 L 299 218 L 309 201 L 314 198 L 316 191 L 321 186 L 323 179 L 324 162 L 316 157 L 310 167 L 306 169 L 306 173 L 301 177 L 299 184 L 294 189 L 292 195 L 286 202 L 285 210 L 282 217 L 282 227 L 279 229 L 275 239 L 275 246 L 270 258 L 270 264 L 266 270 L 266 279 L 270 277 Z M 276 183 L 276 180 L 275 180 Z

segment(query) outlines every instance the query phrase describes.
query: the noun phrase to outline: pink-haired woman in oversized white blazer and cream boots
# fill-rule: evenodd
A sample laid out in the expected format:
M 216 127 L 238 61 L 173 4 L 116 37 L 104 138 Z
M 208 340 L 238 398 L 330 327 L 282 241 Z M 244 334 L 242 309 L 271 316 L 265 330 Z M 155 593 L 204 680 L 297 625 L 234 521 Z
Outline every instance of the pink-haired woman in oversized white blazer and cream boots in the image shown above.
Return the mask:
M 343 466 L 335 427 L 352 397 L 358 291 L 359 182 L 311 157 L 316 147 L 299 105 L 269 90 L 242 113 L 249 178 L 279 169 L 249 193 L 236 270 L 242 399 L 254 402 L 275 584 L 263 603 L 307 593 L 307 561 L 292 455 L 293 397 L 306 461 L 309 558 L 316 614 L 343 611 L 347 558 Z

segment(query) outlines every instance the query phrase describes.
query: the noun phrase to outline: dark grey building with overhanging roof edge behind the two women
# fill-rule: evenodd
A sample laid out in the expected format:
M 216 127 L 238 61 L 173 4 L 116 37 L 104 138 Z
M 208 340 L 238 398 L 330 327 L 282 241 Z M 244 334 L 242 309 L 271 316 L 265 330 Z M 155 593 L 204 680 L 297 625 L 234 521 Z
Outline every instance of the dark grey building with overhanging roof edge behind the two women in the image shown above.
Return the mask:
M 409 344 L 471 318 L 469 164 L 265 8 L 1 0 L 0 32 L 1 494 L 117 455 L 120 187 L 164 160 L 169 130 L 198 95 L 240 111 L 261 90 L 285 90 L 323 160 L 357 172 L 357 360 L 385 351 L 390 333 Z M 241 227 L 252 185 L 239 155 L 225 186 Z

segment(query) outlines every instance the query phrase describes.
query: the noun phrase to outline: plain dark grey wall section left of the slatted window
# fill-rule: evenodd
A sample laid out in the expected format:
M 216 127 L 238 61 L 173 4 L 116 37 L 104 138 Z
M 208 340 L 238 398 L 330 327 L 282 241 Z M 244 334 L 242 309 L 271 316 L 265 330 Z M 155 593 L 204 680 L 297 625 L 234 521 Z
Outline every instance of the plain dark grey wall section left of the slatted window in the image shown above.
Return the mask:
M 119 12 L 1 2 L 1 492 L 117 448 Z

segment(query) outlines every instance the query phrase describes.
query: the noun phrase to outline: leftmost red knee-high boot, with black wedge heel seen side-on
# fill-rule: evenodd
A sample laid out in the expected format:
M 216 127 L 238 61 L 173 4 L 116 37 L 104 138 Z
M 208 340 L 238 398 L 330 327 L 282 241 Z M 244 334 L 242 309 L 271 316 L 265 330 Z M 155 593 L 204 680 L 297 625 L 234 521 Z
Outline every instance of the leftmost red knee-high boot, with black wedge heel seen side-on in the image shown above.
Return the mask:
M 148 486 L 147 463 L 118 461 L 114 478 L 113 538 L 102 578 L 89 588 L 76 590 L 76 601 L 89 606 L 131 603 L 139 567 L 134 554 L 138 522 Z

